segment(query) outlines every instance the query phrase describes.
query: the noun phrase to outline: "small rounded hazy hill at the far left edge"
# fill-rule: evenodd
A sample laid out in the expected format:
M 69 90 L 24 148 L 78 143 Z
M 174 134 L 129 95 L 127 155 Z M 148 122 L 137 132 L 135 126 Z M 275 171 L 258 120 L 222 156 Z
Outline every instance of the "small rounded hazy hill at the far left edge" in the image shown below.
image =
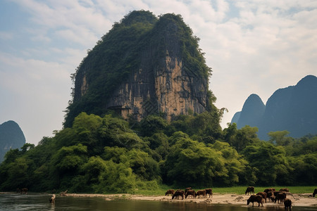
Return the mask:
M 25 144 L 25 136 L 19 125 L 14 121 L 0 124 L 0 162 L 11 148 L 21 148 Z

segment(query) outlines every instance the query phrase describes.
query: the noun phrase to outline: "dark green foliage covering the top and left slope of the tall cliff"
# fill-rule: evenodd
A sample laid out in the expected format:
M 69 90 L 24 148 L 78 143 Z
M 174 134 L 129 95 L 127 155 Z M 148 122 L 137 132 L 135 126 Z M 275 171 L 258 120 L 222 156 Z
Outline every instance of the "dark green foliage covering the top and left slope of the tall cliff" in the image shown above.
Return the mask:
M 132 70 L 139 70 L 146 51 L 154 53 L 147 66 L 155 70 L 159 60 L 166 56 L 166 46 L 179 46 L 170 53 L 182 60 L 183 70 L 188 75 L 207 80 L 211 68 L 206 65 L 198 41 L 199 38 L 193 35 L 180 15 L 165 14 L 156 18 L 149 11 L 132 11 L 125 15 L 97 41 L 72 76 L 75 88 L 73 100 L 66 110 L 64 126 L 71 127 L 74 118 L 81 112 L 106 114 L 108 111 L 104 105 L 108 98 L 128 79 Z M 84 77 L 88 89 L 82 95 Z

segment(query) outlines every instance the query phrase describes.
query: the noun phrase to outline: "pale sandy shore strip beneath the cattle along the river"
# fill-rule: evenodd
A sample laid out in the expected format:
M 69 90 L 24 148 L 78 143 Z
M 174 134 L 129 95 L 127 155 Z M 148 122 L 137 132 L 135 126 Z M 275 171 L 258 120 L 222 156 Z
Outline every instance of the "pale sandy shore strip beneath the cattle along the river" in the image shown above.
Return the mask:
M 172 196 L 140 196 L 140 195 L 130 195 L 130 194 L 77 194 L 68 193 L 67 196 L 73 197 L 103 197 L 105 200 L 115 200 L 119 198 L 125 198 L 128 200 L 158 200 L 158 201 L 170 201 L 170 202 L 183 202 L 183 203 L 215 203 L 215 204 L 231 204 L 231 205 L 247 205 L 247 195 L 237 195 L 237 194 L 217 194 L 213 193 L 213 198 L 184 198 L 184 200 L 174 199 Z M 317 198 L 311 197 L 311 193 L 302 194 L 288 194 L 287 198 L 292 200 L 293 206 L 298 207 L 316 207 L 317 208 Z M 254 203 L 257 206 L 257 203 Z M 263 203 L 263 206 L 277 206 L 284 207 L 282 204 L 269 202 Z

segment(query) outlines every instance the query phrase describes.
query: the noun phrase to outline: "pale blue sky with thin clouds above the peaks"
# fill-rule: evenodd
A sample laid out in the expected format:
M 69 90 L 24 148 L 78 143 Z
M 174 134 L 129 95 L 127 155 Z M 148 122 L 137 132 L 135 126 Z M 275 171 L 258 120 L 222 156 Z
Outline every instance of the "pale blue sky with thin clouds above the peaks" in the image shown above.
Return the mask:
M 1 0 L 0 124 L 17 122 L 35 145 L 63 129 L 70 75 L 135 10 L 180 14 L 200 38 L 223 128 L 250 94 L 266 103 L 317 75 L 317 0 Z

